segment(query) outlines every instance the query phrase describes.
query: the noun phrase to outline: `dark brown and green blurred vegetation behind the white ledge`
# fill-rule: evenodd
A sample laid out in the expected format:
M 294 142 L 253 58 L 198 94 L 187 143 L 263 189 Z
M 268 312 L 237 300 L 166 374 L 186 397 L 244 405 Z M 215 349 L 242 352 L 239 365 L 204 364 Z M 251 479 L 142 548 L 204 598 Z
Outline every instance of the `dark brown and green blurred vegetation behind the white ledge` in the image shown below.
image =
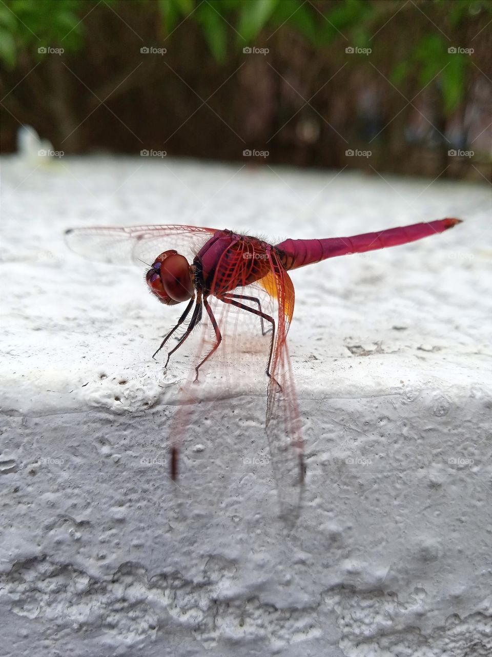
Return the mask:
M 65 154 L 256 148 L 483 181 L 491 18 L 486 0 L 1 0 L 1 147 L 28 124 Z

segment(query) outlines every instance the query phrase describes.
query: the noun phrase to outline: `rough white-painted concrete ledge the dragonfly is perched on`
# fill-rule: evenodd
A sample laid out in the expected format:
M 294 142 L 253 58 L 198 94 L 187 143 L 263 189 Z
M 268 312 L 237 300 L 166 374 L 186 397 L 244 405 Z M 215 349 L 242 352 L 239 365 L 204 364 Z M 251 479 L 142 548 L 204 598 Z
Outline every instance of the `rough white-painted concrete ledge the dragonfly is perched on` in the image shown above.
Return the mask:
M 489 187 L 167 158 L 2 165 L 0 654 L 490 656 Z M 211 361 L 176 485 L 193 351 L 167 371 L 151 356 L 180 308 L 63 239 L 186 223 L 278 242 L 446 216 L 465 221 L 292 273 L 293 528 L 264 434 L 268 338 L 244 336 L 224 378 Z

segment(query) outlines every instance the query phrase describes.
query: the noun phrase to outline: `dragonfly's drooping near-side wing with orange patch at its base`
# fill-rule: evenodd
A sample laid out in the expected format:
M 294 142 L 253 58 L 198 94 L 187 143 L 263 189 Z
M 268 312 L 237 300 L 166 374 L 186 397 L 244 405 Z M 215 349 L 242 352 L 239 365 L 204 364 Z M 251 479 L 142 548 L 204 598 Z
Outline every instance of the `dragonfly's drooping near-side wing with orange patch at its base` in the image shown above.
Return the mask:
M 262 286 L 276 298 L 278 315 L 274 352 L 270 365 L 266 435 L 272 456 L 281 515 L 295 522 L 300 512 L 304 484 L 302 431 L 295 384 L 287 348 L 287 331 L 294 310 L 294 286 L 275 252 L 271 253 L 271 273 Z

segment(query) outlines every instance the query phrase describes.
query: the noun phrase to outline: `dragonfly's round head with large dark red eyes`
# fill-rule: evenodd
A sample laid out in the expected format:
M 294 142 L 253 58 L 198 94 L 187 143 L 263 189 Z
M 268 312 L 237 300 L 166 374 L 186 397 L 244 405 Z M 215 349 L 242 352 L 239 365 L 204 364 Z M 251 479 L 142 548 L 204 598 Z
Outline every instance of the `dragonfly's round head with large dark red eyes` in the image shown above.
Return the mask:
M 152 294 L 167 306 L 175 306 L 194 296 L 193 274 L 184 256 L 174 250 L 157 256 L 146 275 Z

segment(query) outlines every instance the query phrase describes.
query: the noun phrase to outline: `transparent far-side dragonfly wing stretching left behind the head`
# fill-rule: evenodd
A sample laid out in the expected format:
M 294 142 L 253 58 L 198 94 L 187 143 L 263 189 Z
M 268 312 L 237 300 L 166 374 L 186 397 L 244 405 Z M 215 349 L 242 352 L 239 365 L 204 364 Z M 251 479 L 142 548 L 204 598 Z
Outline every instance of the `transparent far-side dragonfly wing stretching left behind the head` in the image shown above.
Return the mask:
M 70 248 L 89 260 L 116 265 L 152 265 L 163 251 L 175 249 L 192 262 L 197 251 L 215 228 L 196 226 L 161 225 L 108 228 L 75 228 L 66 231 Z

